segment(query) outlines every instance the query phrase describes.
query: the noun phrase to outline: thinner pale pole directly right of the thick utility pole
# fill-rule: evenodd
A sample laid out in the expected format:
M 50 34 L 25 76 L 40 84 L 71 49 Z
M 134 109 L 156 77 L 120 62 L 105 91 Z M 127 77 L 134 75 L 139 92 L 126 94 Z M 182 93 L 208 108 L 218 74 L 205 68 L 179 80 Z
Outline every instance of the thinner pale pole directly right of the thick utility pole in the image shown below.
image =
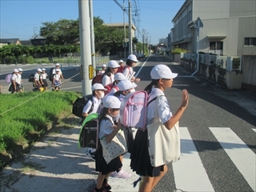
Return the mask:
M 89 0 L 90 6 L 90 41 L 91 41 L 91 61 L 94 67 L 94 76 L 96 75 L 96 63 L 95 63 L 95 46 L 94 46 L 94 10 L 93 10 L 93 1 Z

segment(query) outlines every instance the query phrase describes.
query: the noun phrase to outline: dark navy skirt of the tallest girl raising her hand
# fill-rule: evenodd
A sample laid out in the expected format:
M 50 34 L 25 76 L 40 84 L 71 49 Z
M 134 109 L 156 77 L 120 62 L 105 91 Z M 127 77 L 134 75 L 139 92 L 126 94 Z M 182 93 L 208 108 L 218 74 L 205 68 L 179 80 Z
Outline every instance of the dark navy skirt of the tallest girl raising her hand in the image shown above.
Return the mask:
M 147 130 L 137 130 L 134 147 L 130 154 L 130 168 L 140 176 L 157 177 L 160 175 L 160 171 L 163 171 L 163 166 L 151 166 Z

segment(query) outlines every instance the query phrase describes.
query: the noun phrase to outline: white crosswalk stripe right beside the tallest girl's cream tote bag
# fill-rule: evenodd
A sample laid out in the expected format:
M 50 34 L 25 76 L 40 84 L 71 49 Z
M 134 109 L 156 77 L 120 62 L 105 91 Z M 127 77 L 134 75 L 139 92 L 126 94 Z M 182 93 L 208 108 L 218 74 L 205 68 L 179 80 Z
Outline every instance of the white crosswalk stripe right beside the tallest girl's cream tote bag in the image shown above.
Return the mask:
M 182 155 L 178 162 L 173 163 L 176 188 L 184 191 L 214 191 L 187 127 L 180 127 L 180 135 Z

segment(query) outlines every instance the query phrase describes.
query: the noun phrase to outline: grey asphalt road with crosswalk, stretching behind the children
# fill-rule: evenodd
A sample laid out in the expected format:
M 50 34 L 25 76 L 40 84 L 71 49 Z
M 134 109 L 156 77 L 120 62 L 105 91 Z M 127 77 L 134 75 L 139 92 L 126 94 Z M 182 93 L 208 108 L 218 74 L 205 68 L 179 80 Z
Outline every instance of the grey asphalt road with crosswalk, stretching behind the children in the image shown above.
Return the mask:
M 178 73 L 173 87 L 165 92 L 170 110 L 175 113 L 178 109 L 183 89 L 188 90 L 190 103 L 180 119 L 181 160 L 168 165 L 168 173 L 154 191 L 255 191 L 256 123 L 254 112 L 248 110 L 250 106 L 255 109 L 255 101 L 242 106 L 246 98 L 235 100 L 231 92 L 223 94 L 224 90 L 216 85 L 201 77 L 190 77 L 191 72 L 159 55 L 151 55 L 145 64 L 140 62 L 134 67 L 141 78 L 137 90 L 150 83 L 150 70 L 160 63 Z M 27 79 L 40 66 L 21 67 L 25 70 L 22 78 Z M 70 80 L 62 84 L 62 90 L 82 92 L 78 67 L 64 68 L 64 78 Z M 1 74 L 10 69 L 1 66 Z M 30 90 L 31 84 L 23 82 Z

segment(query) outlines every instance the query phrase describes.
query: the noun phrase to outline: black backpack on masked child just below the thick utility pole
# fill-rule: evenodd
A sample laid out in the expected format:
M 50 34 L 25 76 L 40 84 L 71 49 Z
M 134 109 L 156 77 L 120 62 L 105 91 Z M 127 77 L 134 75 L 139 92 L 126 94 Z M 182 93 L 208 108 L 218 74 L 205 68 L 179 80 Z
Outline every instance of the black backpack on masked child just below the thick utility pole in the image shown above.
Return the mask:
M 88 101 L 92 101 L 92 100 L 93 100 L 92 94 L 86 95 L 85 97 L 82 97 L 82 98 L 77 98 L 77 100 L 75 100 L 73 107 L 72 107 L 72 114 L 74 114 L 75 116 L 77 116 L 79 118 L 84 118 L 82 116 L 83 107 L 86 106 L 86 103 Z M 92 105 L 90 107 L 88 114 L 90 114 L 90 112 L 92 110 L 94 110 L 94 102 L 93 101 L 92 101 Z

